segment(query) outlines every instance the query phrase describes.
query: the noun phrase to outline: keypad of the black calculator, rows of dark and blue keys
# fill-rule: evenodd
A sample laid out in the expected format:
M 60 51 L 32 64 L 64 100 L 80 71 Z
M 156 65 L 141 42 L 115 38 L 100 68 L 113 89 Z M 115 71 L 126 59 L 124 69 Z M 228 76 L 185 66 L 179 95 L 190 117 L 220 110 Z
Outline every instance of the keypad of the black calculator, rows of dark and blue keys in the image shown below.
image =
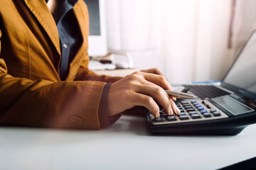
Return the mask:
M 176 103 L 176 105 L 181 113 L 177 115 L 167 115 L 164 110 L 160 108 L 160 118 L 154 118 L 154 115 L 150 113 L 151 122 L 154 125 L 159 125 L 228 118 L 228 115 L 213 106 L 209 101 L 181 101 L 181 103 Z

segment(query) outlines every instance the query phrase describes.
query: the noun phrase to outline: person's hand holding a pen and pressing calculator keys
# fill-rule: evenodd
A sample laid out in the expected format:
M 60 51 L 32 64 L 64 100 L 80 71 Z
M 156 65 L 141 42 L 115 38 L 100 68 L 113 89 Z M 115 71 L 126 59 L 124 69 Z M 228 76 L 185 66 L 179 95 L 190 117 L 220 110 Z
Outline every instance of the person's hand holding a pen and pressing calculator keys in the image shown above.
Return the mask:
M 112 116 L 134 106 L 144 106 L 156 118 L 159 118 L 157 103 L 164 108 L 168 115 L 179 113 L 176 104 L 164 89 L 172 90 L 172 87 L 158 69 L 134 72 L 110 86 L 107 114 Z

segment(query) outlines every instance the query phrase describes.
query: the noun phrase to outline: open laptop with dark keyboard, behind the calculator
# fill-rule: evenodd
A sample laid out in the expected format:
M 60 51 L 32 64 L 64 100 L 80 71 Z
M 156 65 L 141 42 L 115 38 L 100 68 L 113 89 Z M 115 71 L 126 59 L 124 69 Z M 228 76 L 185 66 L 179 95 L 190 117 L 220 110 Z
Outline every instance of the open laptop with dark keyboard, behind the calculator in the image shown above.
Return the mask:
M 237 98 L 256 101 L 256 30 L 240 51 L 235 62 L 223 77 L 220 86 L 183 85 L 188 93 L 201 99 L 216 98 L 233 94 Z

